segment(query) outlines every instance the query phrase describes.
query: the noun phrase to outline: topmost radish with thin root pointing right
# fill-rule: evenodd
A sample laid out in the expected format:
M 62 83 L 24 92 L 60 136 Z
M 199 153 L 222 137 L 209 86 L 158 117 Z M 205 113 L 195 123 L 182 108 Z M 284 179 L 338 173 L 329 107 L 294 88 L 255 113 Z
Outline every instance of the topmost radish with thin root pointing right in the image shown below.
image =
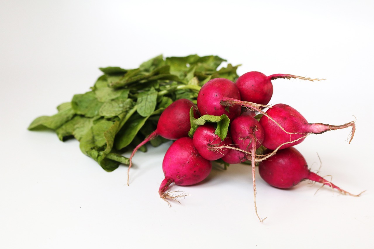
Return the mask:
M 273 74 L 266 76 L 263 73 L 252 71 L 240 76 L 235 84 L 240 91 L 243 101 L 254 102 L 261 105 L 267 105 L 273 95 L 272 80 L 275 79 L 302 79 L 302 80 L 319 80 L 310 79 L 291 74 Z

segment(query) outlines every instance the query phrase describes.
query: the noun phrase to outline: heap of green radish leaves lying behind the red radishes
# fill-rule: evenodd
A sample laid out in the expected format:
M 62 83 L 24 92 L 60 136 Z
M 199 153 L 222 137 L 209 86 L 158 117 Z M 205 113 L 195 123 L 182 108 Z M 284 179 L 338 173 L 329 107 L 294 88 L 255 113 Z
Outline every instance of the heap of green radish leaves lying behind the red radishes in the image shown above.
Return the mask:
M 89 92 L 74 95 L 53 116 L 36 118 L 28 129 L 52 129 L 61 141 L 77 139 L 84 154 L 111 172 L 120 164 L 128 165 L 122 154 L 156 129 L 160 114 L 173 101 L 196 102 L 201 86 L 210 79 L 236 80 L 239 65 L 217 70 L 224 61 L 213 55 L 159 55 L 135 69 L 100 68 L 104 74 Z M 150 144 L 156 147 L 165 141 L 157 137 Z

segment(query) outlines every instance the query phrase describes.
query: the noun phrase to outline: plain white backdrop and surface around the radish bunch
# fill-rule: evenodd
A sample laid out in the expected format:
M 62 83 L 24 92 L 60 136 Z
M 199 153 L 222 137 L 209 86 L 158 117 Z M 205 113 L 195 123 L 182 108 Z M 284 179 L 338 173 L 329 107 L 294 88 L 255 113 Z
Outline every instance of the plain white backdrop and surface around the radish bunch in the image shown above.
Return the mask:
M 0 247 L 370 248 L 373 10 L 364 0 L 1 1 Z M 27 130 L 88 91 L 99 67 L 194 53 L 242 64 L 239 74 L 326 78 L 274 80 L 270 104 L 289 104 L 309 122 L 356 117 L 351 144 L 345 129 L 310 135 L 297 149 L 312 170 L 319 155 L 319 173 L 339 187 L 367 191 L 344 196 L 307 181 L 279 190 L 258 176 L 260 223 L 251 168 L 232 165 L 176 187 L 191 196 L 169 208 L 157 193 L 169 144 L 138 152 L 128 187 L 127 167 L 107 173 L 77 141 Z

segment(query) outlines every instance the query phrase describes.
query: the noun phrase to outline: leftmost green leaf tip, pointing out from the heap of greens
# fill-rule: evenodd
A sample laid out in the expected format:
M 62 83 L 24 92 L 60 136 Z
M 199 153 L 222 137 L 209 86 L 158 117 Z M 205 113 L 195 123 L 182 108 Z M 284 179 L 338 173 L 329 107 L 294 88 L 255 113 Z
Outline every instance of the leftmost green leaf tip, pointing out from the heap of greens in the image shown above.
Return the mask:
M 52 129 L 56 130 L 62 124 L 68 122 L 74 117 L 74 111 L 71 108 L 70 102 L 59 105 L 59 112 L 53 116 L 41 116 L 37 117 L 27 129 L 36 130 L 36 129 Z

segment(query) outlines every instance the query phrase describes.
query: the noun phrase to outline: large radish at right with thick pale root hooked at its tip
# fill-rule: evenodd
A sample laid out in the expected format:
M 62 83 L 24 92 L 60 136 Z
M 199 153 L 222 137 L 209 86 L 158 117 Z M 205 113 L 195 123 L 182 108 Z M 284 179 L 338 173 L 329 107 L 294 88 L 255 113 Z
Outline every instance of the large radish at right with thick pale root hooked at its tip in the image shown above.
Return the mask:
M 310 133 L 321 134 L 329 130 L 352 127 L 352 135 L 349 142 L 352 141 L 355 134 L 355 122 L 342 125 L 308 123 L 298 111 L 286 104 L 273 105 L 266 113 L 271 117 L 271 120 L 264 115 L 260 119 L 260 124 L 265 132 L 263 146 L 270 150 L 275 150 L 279 145 L 286 142 L 289 143 L 282 145 L 280 149 L 300 144 L 304 141 L 305 136 Z

